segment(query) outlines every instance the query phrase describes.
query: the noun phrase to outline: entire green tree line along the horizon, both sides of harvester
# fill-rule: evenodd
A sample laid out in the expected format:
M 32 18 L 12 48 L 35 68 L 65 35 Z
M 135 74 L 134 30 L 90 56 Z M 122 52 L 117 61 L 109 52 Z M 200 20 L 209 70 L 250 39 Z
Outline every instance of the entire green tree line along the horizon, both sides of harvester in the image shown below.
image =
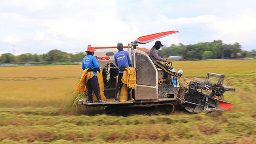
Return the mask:
M 194 45 L 178 46 L 171 45 L 158 51 L 160 57 L 182 56 L 184 60 L 221 59 L 224 58 L 245 58 L 256 57 L 256 51 L 242 51 L 239 43 L 224 44 L 221 40 L 213 42 L 198 43 Z M 51 50 L 46 54 L 21 54 L 15 56 L 11 53 L 2 54 L 1 63 L 45 63 L 45 62 L 79 62 L 86 56 L 85 52 L 76 54 Z

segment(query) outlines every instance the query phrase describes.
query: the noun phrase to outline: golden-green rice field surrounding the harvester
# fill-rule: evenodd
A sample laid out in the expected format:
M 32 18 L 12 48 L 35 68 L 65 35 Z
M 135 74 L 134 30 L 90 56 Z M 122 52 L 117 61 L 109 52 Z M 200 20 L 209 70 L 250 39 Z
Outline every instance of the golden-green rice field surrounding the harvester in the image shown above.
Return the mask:
M 256 60 L 173 66 L 188 80 L 225 74 L 236 88 L 234 106 L 199 114 L 91 116 L 72 107 L 80 65 L 0 67 L 0 143 L 256 143 Z

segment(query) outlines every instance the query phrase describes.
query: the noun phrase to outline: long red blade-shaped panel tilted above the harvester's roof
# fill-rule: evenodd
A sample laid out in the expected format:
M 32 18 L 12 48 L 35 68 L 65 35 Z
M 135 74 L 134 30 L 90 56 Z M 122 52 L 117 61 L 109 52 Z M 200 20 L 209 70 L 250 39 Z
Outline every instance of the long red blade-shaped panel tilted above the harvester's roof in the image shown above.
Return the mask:
M 179 31 L 169 31 L 169 32 L 151 34 L 151 35 L 139 37 L 137 40 L 135 40 L 135 42 L 137 42 L 139 44 L 147 44 L 147 43 L 152 42 L 154 40 L 157 40 L 157 39 L 160 39 L 160 38 L 163 38 L 165 36 L 172 35 L 172 34 L 176 34 L 176 33 L 179 33 Z

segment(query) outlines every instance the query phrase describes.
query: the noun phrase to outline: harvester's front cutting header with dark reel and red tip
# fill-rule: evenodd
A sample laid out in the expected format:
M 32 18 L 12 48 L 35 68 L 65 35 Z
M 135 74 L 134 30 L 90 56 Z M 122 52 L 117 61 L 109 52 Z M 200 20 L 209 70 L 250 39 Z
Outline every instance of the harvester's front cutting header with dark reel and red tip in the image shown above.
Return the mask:
M 210 81 L 213 78 L 217 78 L 216 81 Z M 189 112 L 199 113 L 203 111 L 223 111 L 233 106 L 232 103 L 223 101 L 230 98 L 235 89 L 231 82 L 228 82 L 228 86 L 223 85 L 225 76 L 220 74 L 208 73 L 205 80 L 195 79 L 190 81 L 188 86 L 180 89 L 178 93 L 178 99 L 180 104 Z M 217 97 L 217 98 L 216 98 Z

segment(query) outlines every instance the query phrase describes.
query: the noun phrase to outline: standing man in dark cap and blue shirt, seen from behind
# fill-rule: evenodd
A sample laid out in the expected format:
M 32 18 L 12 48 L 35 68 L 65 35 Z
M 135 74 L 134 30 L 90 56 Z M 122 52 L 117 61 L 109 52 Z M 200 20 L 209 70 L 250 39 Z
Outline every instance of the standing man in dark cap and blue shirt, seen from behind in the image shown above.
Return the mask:
M 129 53 L 127 51 L 123 51 L 123 46 L 122 43 L 118 43 L 117 44 L 117 49 L 118 52 L 114 54 L 114 62 L 115 65 L 118 67 L 119 69 L 119 74 L 118 74 L 118 80 L 117 80 L 117 87 L 116 87 L 116 92 L 115 92 L 115 99 L 114 102 L 118 102 L 118 98 L 119 98 L 119 94 L 121 91 L 121 87 L 122 87 L 122 75 L 123 75 L 123 70 L 124 68 L 127 67 L 133 67 L 133 63 L 130 59 Z M 131 89 L 128 88 L 128 96 L 129 96 L 129 101 L 133 101 L 133 98 L 131 97 Z

